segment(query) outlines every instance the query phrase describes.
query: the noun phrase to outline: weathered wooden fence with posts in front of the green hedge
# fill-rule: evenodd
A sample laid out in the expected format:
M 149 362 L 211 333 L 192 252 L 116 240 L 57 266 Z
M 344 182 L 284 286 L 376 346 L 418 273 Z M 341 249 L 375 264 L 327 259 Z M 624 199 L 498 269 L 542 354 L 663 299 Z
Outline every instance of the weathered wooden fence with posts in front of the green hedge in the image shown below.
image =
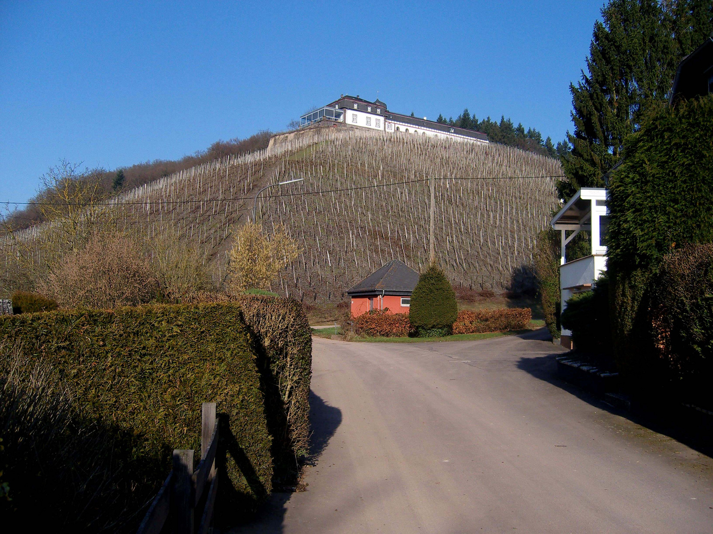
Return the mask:
M 215 468 L 217 444 L 215 402 L 204 402 L 198 467 L 193 470 L 193 450 L 173 451 L 173 469 L 148 508 L 137 534 L 208 532 L 218 486 Z

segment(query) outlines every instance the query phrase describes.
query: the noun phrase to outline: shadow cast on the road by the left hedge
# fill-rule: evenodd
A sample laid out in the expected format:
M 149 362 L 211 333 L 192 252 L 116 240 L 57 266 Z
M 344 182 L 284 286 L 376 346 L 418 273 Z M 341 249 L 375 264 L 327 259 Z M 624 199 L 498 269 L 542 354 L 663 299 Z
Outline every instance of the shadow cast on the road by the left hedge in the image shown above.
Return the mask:
M 329 440 L 342 424 L 342 410 L 329 406 L 322 397 L 314 391 L 309 391 L 309 423 L 312 434 L 309 437 L 309 456 L 304 460 L 303 469 L 316 466 L 320 456 L 327 449 Z M 304 471 L 303 471 L 304 472 Z M 298 486 L 298 491 L 309 491 L 309 487 Z M 284 515 L 287 513 L 287 503 L 296 493 L 275 492 L 267 498 L 267 502 L 257 512 L 255 518 L 245 525 L 238 525 L 227 532 L 230 534 L 281 534 L 284 532 Z

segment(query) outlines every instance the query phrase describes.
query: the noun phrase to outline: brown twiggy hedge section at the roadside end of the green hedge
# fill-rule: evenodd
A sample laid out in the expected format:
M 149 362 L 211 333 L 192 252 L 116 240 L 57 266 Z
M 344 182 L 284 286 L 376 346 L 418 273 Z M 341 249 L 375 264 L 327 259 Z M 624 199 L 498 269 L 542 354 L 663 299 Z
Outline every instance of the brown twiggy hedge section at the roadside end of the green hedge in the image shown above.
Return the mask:
M 309 453 L 312 330 L 294 298 L 243 295 L 245 321 L 258 341 L 277 486 L 297 483 L 298 460 Z

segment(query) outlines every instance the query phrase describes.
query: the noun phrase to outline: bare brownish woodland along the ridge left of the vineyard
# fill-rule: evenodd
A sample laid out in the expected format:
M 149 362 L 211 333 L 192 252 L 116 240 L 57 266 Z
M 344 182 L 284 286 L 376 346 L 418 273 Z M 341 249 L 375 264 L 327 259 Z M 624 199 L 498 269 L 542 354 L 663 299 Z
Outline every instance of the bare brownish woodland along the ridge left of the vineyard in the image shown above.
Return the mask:
M 99 196 L 109 197 L 112 194 L 120 192 L 122 189 L 131 189 L 148 182 L 153 182 L 164 176 L 173 174 L 174 172 L 190 169 L 203 162 L 211 161 L 212 159 L 220 159 L 228 155 L 244 155 L 255 150 L 267 148 L 270 142 L 272 132 L 262 130 L 255 135 L 247 137 L 247 139 L 230 139 L 227 141 L 216 141 L 206 150 L 198 150 L 192 155 L 184 156 L 181 159 L 154 159 L 144 163 L 137 163 L 131 167 L 119 167 L 113 171 L 107 169 L 86 169 L 84 172 L 78 173 L 78 179 L 96 180 L 101 182 L 102 192 L 98 192 Z M 54 199 L 50 192 L 41 190 L 32 197 L 29 202 L 51 202 L 61 199 Z M 19 230 L 33 226 L 43 222 L 45 216 L 43 210 L 38 206 L 28 204 L 24 209 L 18 209 L 6 214 L 2 218 L 3 229 Z M 0 230 L 1 231 L 1 230 Z

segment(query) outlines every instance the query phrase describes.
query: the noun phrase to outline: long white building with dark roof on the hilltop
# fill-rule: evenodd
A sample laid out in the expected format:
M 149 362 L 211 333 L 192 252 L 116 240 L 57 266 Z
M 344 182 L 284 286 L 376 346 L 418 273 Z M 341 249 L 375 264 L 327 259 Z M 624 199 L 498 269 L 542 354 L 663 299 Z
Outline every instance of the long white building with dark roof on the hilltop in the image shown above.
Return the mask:
M 386 109 L 386 104 L 378 98 L 374 102 L 359 98 L 359 95 L 342 95 L 338 100 L 299 117 L 299 126 L 307 127 L 317 122 L 334 121 L 366 130 L 380 130 L 386 133 L 425 135 L 459 141 L 487 143 L 488 136 L 483 132 L 466 130 L 447 124 L 441 124 L 426 117 L 409 117 Z

